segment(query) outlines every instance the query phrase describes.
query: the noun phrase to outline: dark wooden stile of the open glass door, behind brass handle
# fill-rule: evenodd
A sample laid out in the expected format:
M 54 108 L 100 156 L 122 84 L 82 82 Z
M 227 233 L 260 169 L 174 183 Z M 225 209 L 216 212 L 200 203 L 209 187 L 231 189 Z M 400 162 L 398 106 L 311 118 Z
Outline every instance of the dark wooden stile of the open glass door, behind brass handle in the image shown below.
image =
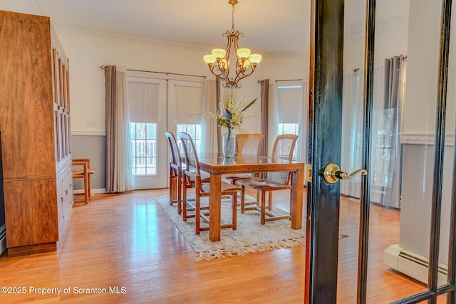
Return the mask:
M 343 21 L 343 0 L 311 0 L 306 303 L 336 303 L 340 187 L 320 171 L 341 162 Z

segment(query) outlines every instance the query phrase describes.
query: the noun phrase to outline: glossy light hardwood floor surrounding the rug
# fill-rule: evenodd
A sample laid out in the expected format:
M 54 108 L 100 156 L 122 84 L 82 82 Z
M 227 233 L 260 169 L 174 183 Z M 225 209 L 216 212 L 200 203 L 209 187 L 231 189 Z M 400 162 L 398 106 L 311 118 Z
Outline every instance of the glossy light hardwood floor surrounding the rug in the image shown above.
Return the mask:
M 0 285 L 16 293 L 0 293 L 0 303 L 303 303 L 305 246 L 194 262 L 195 252 L 155 204 L 163 194 L 167 189 L 96 194 L 74 206 L 58 251 L 0 257 Z M 276 196 L 279 206 L 286 195 Z M 358 214 L 358 202 L 341 199 L 340 232 L 348 239 L 340 241 L 338 303 L 356 303 Z M 399 219 L 397 210 L 371 207 L 368 303 L 425 290 L 382 262 L 383 250 L 398 243 Z

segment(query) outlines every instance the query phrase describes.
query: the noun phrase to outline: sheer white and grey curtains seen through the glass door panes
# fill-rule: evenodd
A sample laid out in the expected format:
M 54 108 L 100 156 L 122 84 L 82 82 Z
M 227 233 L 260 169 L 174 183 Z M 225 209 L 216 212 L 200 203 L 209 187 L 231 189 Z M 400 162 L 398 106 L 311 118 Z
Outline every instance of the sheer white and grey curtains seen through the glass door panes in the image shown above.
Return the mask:
M 393 64 L 394 63 L 394 64 Z M 399 77 L 390 74 L 398 73 Z M 371 202 L 400 208 L 401 108 L 405 93 L 403 56 L 377 61 L 373 72 L 373 125 L 371 140 Z M 361 168 L 363 149 L 363 70 L 343 75 L 341 169 Z M 397 83 L 396 83 L 397 82 Z M 396 85 L 397 90 L 396 90 Z M 393 92 L 393 94 L 391 94 Z M 391 100 L 397 97 L 397 102 Z M 341 194 L 360 197 L 361 177 L 341 183 Z

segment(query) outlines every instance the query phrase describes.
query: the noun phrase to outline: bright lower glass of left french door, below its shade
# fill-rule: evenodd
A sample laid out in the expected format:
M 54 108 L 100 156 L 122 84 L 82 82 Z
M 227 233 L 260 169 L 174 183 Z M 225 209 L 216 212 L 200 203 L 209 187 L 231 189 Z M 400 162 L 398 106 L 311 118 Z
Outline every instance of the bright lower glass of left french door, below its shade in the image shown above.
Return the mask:
M 130 123 L 133 174 L 157 174 L 157 124 Z

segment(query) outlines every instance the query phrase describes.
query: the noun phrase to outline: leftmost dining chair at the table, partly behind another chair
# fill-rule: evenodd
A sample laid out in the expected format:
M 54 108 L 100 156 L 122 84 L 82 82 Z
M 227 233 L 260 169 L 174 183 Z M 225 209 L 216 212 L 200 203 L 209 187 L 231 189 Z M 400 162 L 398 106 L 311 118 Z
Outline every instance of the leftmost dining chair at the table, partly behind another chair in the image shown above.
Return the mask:
M 177 203 L 177 213 L 182 214 L 182 158 L 172 132 L 165 132 L 171 150 L 170 161 L 170 205 Z

